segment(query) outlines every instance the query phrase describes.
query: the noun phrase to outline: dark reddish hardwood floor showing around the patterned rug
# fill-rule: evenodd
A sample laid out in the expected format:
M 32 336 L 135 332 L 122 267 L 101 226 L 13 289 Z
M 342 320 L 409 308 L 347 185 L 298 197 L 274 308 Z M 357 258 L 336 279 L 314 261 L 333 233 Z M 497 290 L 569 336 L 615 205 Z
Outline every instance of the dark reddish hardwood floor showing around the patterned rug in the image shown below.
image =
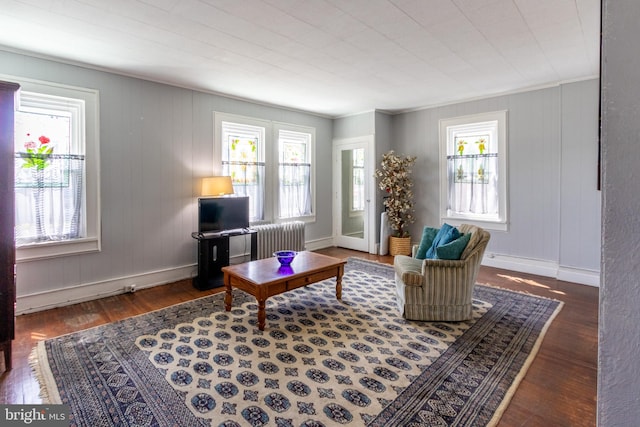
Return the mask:
M 357 256 L 393 262 L 391 256 L 340 248 L 318 252 L 338 258 Z M 595 426 L 598 288 L 490 267 L 481 267 L 477 281 L 564 302 L 499 426 Z M 190 280 L 183 280 L 133 294 L 18 316 L 13 369 L 5 372 L 4 362 L 0 361 L 0 403 L 41 402 L 39 386 L 29 365 L 29 354 L 37 341 L 222 290 L 198 291 Z

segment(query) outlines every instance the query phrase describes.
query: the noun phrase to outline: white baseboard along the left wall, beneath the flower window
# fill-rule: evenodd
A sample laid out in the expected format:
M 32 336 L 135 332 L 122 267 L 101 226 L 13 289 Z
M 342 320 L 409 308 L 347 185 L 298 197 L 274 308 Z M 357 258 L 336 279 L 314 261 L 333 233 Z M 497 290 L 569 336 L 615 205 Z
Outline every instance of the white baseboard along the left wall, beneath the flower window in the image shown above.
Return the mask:
M 16 314 L 33 313 L 123 294 L 127 292 L 126 289 L 131 285 L 135 285 L 136 290 L 140 290 L 173 283 L 178 280 L 194 277 L 197 274 L 197 269 L 198 266 L 195 264 L 185 265 L 100 282 L 68 286 L 29 295 L 19 295 L 16 298 Z

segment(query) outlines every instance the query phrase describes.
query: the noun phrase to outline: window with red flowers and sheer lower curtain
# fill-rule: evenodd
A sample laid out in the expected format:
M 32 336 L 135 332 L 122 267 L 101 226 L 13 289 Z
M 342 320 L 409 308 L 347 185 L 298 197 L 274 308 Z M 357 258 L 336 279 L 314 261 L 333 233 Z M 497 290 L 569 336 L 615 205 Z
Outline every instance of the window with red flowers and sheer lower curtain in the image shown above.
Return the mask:
M 15 112 L 17 259 L 100 249 L 98 93 L 18 81 Z

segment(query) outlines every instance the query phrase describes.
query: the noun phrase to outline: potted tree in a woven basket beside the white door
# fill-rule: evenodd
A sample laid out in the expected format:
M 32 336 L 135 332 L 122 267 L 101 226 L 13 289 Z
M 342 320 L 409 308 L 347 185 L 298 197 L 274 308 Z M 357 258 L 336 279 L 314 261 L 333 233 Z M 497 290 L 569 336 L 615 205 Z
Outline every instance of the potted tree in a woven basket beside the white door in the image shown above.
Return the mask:
M 415 156 L 399 156 L 391 150 L 382 156 L 380 168 L 374 174 L 378 187 L 387 193 L 384 206 L 392 230 L 389 252 L 393 256 L 411 254 L 408 226 L 415 221 L 411 179 L 411 167 L 415 161 Z

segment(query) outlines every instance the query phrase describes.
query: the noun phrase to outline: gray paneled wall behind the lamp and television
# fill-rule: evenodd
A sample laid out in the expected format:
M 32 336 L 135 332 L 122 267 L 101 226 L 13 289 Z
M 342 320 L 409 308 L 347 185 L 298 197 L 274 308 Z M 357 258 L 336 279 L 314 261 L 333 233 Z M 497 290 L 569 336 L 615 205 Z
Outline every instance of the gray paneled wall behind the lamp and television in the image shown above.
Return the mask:
M 0 64 L 1 74 L 100 91 L 102 251 L 19 263 L 19 300 L 86 284 L 108 293 L 123 277 L 192 266 L 197 183 L 213 172 L 214 111 L 313 126 L 316 163 L 331 164 L 327 118 L 9 52 L 0 51 Z M 331 205 L 321 203 L 330 200 L 331 174 L 316 178 L 308 240 L 332 233 Z

